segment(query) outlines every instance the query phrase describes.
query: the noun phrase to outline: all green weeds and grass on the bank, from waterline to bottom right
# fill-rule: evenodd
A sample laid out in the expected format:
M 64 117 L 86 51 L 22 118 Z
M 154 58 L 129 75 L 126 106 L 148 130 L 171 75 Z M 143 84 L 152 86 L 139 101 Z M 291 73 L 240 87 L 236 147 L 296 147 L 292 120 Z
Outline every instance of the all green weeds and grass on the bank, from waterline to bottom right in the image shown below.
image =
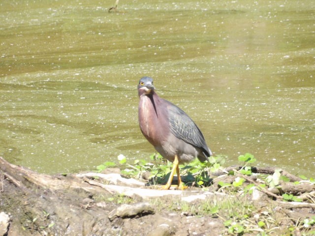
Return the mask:
M 119 163 L 105 162 L 97 166 L 97 171 L 101 172 L 108 167 L 118 166 L 122 174 L 127 177 L 141 178 L 145 173 L 150 173 L 152 184 L 163 184 L 171 171 L 171 163 L 162 158 L 158 153 L 150 156 L 150 162 L 146 160 L 135 160 L 133 164 L 128 164 L 126 157 L 118 156 Z M 308 202 L 315 204 L 314 195 L 308 198 L 302 198 L 302 193 L 290 193 L 282 190 L 283 183 L 300 184 L 302 181 L 310 185 L 315 184 L 315 179 L 307 179 L 300 176 L 302 181 L 291 182 L 291 179 L 282 174 L 281 169 L 276 169 L 272 174 L 256 173 L 252 164 L 256 162 L 254 156 L 250 153 L 238 157 L 241 162 L 240 168 L 234 168 L 225 171 L 222 168 L 224 157 L 210 157 L 209 162 L 201 163 L 197 159 L 189 165 L 180 165 L 182 179 L 186 185 L 201 187 L 207 191 L 209 185 L 217 184 L 217 191 L 229 194 L 230 197 L 201 201 L 198 203 L 187 203 L 178 199 L 165 201 L 165 199 L 154 199 L 151 203 L 161 210 L 179 211 L 188 215 L 220 218 L 224 222 L 229 235 L 256 234 L 266 236 L 274 234 L 281 230 L 282 234 L 292 235 L 293 231 L 303 232 L 303 235 L 315 235 L 315 216 L 299 218 L 295 225 L 283 225 L 281 220 L 275 216 L 275 210 L 272 204 L 267 207 L 258 207 L 249 201 L 249 196 L 257 190 L 266 193 L 271 198 L 277 198 L 284 202 Z M 229 178 L 230 177 L 230 178 Z M 222 179 L 222 180 L 221 180 Z M 232 180 L 231 180 L 232 179 Z M 273 194 L 270 189 L 279 189 L 279 194 Z M 125 201 L 124 196 L 117 198 Z M 110 201 L 110 199 L 108 199 Z

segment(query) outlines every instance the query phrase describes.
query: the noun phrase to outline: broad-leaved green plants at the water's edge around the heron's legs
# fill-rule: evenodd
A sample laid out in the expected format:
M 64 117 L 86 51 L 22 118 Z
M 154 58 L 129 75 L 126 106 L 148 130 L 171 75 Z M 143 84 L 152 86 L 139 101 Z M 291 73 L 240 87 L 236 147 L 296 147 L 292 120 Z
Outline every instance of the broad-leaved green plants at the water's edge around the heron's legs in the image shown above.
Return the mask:
M 232 170 L 225 173 L 229 176 L 235 176 L 232 182 L 219 181 L 218 185 L 221 187 L 221 191 L 228 191 L 230 193 L 252 194 L 253 189 L 264 191 L 267 187 L 278 188 L 281 182 L 290 181 L 287 177 L 282 175 L 282 170 L 276 170 L 272 175 L 254 174 L 252 173 L 252 164 L 256 162 L 256 158 L 251 153 L 245 153 L 240 155 L 238 160 L 242 163 L 240 170 Z M 223 173 L 222 165 L 225 159 L 223 156 L 211 156 L 208 162 L 200 162 L 197 158 L 190 162 L 188 165 L 180 165 L 182 172 L 182 178 L 187 185 L 194 185 L 197 187 L 206 187 L 213 181 L 213 177 L 210 174 L 216 175 L 217 173 Z M 160 154 L 153 153 L 150 155 L 150 161 L 137 159 L 132 164 L 127 162 L 124 155 L 118 156 L 118 163 L 107 161 L 96 167 L 98 172 L 103 171 L 110 167 L 119 167 L 122 174 L 127 177 L 141 178 L 145 173 L 149 173 L 149 179 L 152 184 L 164 184 L 167 180 L 167 175 L 172 169 L 172 163 L 165 160 Z M 247 177 L 257 175 L 257 179 L 260 180 L 259 184 L 248 183 Z M 303 177 L 305 178 L 305 177 Z M 261 183 L 264 181 L 265 183 Z M 314 184 L 313 178 L 308 181 L 310 184 Z M 256 181 L 257 182 L 257 181 Z M 300 182 L 296 182 L 299 184 Z M 292 194 L 283 193 L 284 201 L 301 202 L 302 200 L 298 196 Z

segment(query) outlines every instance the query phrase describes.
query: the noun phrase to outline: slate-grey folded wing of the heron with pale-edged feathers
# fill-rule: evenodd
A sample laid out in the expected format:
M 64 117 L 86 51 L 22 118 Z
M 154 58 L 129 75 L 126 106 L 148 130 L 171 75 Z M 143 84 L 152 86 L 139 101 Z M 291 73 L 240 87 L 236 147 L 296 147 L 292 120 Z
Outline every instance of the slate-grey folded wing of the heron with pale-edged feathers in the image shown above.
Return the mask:
M 207 147 L 200 129 L 192 121 L 192 119 L 189 118 L 189 116 L 182 109 L 170 102 L 168 102 L 167 110 L 172 133 L 178 139 L 184 140 L 186 143 L 200 148 L 207 157 L 210 156 L 211 151 Z

